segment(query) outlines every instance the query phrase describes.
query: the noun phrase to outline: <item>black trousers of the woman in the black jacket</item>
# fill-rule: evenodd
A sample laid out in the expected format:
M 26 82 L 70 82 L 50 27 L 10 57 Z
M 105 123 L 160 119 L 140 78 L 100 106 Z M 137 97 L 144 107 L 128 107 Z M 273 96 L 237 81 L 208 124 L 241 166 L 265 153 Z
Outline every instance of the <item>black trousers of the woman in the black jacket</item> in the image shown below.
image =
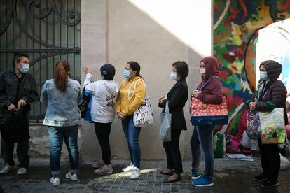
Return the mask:
M 163 142 L 167 157 L 167 168 L 174 169 L 174 173 L 182 173 L 182 160 L 179 150 L 180 130 L 171 130 L 171 141 Z

